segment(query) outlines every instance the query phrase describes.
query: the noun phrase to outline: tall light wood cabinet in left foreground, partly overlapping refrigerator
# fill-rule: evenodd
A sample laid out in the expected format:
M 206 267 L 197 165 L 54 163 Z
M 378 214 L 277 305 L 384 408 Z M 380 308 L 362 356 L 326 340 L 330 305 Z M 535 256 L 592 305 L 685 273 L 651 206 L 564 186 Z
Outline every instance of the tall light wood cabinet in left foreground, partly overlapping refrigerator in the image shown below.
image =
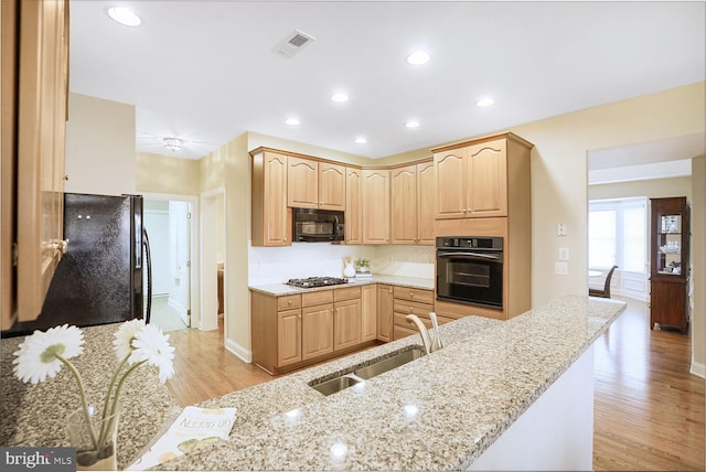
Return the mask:
M 68 1 L 2 1 L 2 329 L 36 319 L 62 255 Z M 13 175 L 17 175 L 13 178 Z

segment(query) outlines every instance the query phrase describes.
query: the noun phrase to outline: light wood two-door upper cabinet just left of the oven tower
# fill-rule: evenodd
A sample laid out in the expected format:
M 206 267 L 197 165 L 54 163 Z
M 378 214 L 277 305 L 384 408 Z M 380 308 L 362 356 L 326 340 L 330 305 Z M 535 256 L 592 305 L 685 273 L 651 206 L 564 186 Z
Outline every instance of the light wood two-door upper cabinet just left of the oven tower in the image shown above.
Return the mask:
M 391 243 L 434 245 L 434 161 L 389 172 Z

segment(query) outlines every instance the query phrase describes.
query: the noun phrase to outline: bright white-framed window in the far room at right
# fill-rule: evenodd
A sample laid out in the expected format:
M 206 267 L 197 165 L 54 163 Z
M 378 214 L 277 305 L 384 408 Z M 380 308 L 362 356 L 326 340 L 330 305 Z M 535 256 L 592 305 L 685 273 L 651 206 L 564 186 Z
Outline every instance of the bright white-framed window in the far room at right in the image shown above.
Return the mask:
M 646 197 L 589 202 L 588 267 L 646 273 Z

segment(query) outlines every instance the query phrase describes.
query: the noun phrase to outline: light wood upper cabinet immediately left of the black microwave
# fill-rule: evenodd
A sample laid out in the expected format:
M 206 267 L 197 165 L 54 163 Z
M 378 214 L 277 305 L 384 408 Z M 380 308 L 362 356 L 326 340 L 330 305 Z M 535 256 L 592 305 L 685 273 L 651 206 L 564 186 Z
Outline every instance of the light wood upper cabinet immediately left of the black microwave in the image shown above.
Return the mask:
M 253 151 L 253 246 L 290 246 L 291 208 L 287 207 L 287 155 Z

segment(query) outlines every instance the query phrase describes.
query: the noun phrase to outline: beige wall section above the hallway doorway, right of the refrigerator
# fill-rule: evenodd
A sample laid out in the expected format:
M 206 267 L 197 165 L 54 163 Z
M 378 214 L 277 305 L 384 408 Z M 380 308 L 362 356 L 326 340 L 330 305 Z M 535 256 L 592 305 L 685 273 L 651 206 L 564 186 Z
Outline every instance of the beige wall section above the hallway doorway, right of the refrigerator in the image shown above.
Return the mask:
M 137 153 L 137 192 L 199 195 L 200 161 Z

